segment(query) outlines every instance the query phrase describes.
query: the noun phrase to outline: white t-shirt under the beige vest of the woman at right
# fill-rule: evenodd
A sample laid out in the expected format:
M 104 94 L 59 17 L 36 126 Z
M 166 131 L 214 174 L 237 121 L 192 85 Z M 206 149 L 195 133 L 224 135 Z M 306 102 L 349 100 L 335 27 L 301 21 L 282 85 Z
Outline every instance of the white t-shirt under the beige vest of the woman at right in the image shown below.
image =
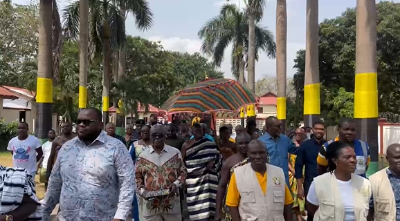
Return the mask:
M 354 215 L 354 199 L 351 180 L 342 181 L 336 179 L 336 181 L 338 182 L 340 196 L 342 197 L 343 206 L 345 209 L 345 219 L 343 221 L 355 221 L 356 216 Z M 314 182 L 311 183 L 309 193 L 307 194 L 307 201 L 316 206 L 320 205 L 316 193 L 316 185 Z

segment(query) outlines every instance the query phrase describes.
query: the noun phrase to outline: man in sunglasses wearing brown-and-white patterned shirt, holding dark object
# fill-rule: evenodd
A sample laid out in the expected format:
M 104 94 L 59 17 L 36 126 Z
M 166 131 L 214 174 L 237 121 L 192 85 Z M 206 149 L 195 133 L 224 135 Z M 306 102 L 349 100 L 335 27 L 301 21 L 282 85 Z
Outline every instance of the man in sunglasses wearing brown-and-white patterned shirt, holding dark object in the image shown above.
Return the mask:
M 150 128 L 153 145 L 140 153 L 136 163 L 136 184 L 143 221 L 179 221 L 182 218 L 179 187 L 185 183 L 188 171 L 181 151 L 165 144 L 166 134 L 163 125 L 153 125 Z

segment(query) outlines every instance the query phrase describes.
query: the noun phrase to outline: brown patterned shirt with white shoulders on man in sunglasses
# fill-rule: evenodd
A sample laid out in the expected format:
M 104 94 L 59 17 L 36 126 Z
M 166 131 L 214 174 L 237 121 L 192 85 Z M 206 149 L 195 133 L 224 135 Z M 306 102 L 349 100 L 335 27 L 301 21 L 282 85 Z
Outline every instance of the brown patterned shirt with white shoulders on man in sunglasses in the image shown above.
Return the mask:
M 173 183 L 180 187 L 185 183 L 188 171 L 183 164 L 181 151 L 164 144 L 163 151 L 157 153 L 150 146 L 140 153 L 136 163 L 136 184 L 138 193 L 165 190 Z M 160 213 L 181 213 L 179 196 L 155 198 L 152 201 L 140 199 L 139 211 L 143 216 Z

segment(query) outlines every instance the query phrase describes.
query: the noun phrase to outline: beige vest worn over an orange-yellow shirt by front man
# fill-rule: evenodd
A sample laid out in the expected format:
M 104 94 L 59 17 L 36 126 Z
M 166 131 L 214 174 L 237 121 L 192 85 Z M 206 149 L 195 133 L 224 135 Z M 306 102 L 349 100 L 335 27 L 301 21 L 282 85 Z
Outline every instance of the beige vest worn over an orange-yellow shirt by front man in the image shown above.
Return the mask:
M 266 164 L 266 193 L 251 168 L 251 164 L 235 169 L 237 190 L 240 193 L 239 214 L 243 221 L 284 221 L 285 181 L 283 170 Z

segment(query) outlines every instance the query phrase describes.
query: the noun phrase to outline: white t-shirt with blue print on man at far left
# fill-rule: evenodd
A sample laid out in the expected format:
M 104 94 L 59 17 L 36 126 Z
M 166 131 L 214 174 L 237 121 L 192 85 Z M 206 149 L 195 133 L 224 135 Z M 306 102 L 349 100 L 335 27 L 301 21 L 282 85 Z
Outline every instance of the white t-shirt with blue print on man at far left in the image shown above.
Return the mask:
M 8 142 L 7 150 L 12 151 L 12 163 L 14 167 L 26 169 L 28 173 L 37 171 L 36 149 L 42 146 L 40 140 L 33 135 L 28 135 L 26 140 L 18 140 L 14 137 Z

